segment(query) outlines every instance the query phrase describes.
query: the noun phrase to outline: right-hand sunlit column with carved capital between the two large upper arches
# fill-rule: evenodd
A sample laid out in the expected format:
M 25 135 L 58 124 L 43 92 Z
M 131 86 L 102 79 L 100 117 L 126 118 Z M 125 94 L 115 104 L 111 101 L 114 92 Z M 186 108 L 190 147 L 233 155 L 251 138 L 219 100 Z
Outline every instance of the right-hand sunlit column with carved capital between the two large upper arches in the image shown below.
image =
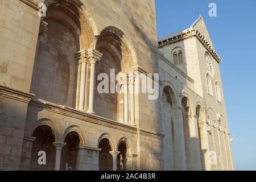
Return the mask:
M 90 63 L 90 90 L 89 90 L 89 108 L 88 113 L 94 114 L 94 88 L 95 88 L 95 82 L 96 82 L 96 75 L 95 75 L 95 65 L 98 61 L 100 61 L 102 54 L 95 49 L 88 49 L 87 50 L 88 60 Z

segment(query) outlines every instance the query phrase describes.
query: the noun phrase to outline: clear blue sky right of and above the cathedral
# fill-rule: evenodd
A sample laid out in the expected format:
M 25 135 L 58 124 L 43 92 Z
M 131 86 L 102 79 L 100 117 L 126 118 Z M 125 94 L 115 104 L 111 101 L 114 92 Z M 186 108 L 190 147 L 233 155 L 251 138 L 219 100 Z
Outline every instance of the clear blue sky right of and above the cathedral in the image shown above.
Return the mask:
M 208 15 L 209 3 L 217 17 Z M 155 0 L 158 38 L 203 15 L 218 55 L 236 170 L 256 170 L 256 1 Z

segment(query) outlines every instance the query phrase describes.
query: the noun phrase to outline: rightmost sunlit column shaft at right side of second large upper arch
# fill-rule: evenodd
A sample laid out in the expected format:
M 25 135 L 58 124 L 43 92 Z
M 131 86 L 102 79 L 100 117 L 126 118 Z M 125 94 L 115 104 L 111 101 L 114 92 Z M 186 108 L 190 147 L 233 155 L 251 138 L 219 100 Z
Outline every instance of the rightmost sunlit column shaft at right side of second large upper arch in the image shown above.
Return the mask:
M 134 74 L 129 75 L 129 95 L 130 95 L 130 125 L 135 125 L 135 105 L 134 105 Z

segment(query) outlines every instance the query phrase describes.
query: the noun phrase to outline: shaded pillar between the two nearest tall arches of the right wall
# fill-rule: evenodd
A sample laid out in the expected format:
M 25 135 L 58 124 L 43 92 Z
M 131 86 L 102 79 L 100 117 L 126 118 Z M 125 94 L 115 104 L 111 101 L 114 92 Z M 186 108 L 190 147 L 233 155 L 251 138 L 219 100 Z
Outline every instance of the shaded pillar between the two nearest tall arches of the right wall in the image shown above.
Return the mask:
M 187 170 L 185 154 L 185 138 L 183 129 L 182 107 L 172 107 L 174 116 L 174 169 L 175 171 Z

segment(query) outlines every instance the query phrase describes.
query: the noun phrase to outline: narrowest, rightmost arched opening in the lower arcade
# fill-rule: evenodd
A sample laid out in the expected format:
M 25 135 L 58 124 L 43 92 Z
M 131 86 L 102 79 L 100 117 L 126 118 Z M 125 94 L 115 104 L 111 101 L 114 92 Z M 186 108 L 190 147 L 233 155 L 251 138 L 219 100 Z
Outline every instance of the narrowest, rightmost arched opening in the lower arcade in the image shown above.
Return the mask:
M 117 155 L 117 171 L 126 171 L 127 145 L 124 141 L 119 143 L 118 151 L 120 153 Z

